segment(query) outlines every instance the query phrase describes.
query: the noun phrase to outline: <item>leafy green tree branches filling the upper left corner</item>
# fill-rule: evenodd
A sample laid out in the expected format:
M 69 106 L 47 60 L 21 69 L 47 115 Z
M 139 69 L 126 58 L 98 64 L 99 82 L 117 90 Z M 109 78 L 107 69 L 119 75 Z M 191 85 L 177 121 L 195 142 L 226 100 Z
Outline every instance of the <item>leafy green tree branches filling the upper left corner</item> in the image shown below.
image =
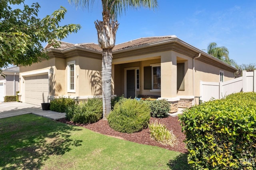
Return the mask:
M 11 5 L 19 5 L 22 9 L 12 9 Z M 1 0 L 0 4 L 0 68 L 8 64 L 30 65 L 48 56 L 43 42 L 60 45 L 57 39 L 64 39 L 70 33 L 80 29 L 80 25 L 60 26 L 67 10 L 60 7 L 43 19 L 38 18 L 39 4 L 31 6 L 24 0 Z M 3 75 L 0 69 L 0 75 Z

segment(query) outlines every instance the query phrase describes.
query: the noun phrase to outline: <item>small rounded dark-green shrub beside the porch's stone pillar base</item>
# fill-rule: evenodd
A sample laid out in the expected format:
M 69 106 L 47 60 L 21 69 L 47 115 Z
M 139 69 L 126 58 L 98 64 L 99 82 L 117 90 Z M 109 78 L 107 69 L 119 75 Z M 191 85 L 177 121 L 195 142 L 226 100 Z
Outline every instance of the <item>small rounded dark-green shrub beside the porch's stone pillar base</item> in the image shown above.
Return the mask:
M 166 100 L 150 101 L 151 117 L 168 117 L 170 104 Z

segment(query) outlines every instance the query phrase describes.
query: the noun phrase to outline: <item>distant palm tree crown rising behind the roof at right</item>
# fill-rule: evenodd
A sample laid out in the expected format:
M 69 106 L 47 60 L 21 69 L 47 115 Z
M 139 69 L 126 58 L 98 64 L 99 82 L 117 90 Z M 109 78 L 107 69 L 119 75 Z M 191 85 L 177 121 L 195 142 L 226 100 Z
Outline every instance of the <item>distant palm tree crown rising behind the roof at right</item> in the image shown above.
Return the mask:
M 212 55 L 213 57 L 216 57 L 217 59 L 220 59 L 222 61 L 226 61 L 226 63 L 228 63 L 228 61 L 230 61 L 229 57 L 228 57 L 228 49 L 224 46 L 222 47 L 217 47 L 216 43 L 210 43 L 207 47 L 207 53 Z

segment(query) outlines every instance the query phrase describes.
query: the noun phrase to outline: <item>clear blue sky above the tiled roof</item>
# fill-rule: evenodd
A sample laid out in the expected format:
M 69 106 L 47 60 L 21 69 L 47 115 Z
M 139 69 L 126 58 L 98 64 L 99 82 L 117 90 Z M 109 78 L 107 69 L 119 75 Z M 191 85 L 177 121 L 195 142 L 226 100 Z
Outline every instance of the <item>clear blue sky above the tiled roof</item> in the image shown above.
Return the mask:
M 68 12 L 62 24 L 77 23 L 82 29 L 63 41 L 98 43 L 95 20 L 102 20 L 101 0 L 89 9 L 76 9 L 68 0 L 26 0 L 38 2 L 39 17 L 52 14 L 64 6 Z M 132 10 L 118 18 L 120 23 L 116 44 L 140 37 L 176 35 L 199 49 L 209 43 L 225 46 L 238 64 L 256 63 L 256 1 L 255 0 L 158 0 L 158 9 Z

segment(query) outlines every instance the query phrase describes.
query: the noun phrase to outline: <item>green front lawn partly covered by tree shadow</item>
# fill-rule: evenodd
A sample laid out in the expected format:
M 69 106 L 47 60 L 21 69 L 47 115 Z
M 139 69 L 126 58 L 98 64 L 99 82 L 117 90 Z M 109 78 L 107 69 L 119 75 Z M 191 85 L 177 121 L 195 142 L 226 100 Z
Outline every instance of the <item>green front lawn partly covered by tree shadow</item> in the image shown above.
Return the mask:
M 187 155 L 32 114 L 0 119 L 0 169 L 189 169 Z

